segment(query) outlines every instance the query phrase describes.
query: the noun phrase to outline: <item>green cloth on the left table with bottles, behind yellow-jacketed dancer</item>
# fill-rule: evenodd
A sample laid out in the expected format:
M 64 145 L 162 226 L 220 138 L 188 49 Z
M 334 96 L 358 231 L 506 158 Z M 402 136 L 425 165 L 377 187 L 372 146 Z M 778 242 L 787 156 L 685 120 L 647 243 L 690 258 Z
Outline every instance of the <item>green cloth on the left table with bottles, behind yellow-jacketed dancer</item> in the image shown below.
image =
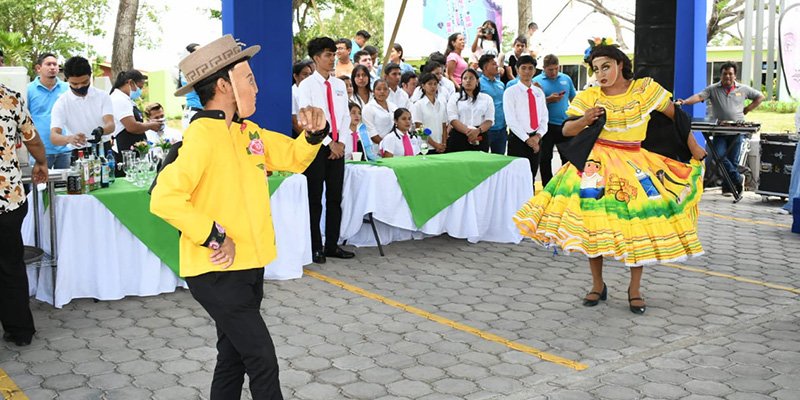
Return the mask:
M 269 177 L 270 196 L 285 179 L 285 176 L 277 174 Z M 178 231 L 150 213 L 150 195 L 147 194 L 147 189 L 133 186 L 125 179 L 117 179 L 111 187 L 95 190 L 90 194 L 100 200 L 175 275 L 180 276 Z

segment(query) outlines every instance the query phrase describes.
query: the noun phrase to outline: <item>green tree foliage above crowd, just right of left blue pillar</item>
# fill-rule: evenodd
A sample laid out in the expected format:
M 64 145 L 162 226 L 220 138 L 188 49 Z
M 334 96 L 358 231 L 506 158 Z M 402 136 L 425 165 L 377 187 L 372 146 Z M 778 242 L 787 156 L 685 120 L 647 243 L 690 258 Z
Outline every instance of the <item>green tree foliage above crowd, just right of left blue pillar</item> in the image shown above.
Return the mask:
M 384 0 L 293 0 L 295 58 L 306 56 L 306 43 L 317 36 L 353 39 L 364 29 L 372 35 L 368 44 L 386 50 L 383 38 Z M 408 11 L 408 10 L 406 10 Z

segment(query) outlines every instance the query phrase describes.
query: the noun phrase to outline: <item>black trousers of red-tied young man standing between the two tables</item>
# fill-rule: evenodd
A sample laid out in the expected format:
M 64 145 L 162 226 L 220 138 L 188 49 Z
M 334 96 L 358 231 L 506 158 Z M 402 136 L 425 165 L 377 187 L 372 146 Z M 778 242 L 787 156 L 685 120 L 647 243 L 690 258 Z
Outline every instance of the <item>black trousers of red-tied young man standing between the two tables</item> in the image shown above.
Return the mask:
M 339 229 L 342 225 L 342 186 L 344 185 L 344 157 L 329 160 L 331 149 L 322 146 L 317 157 L 306 168 L 303 175 L 308 180 L 308 209 L 311 216 L 311 250 L 323 251 L 322 232 L 322 188 L 325 188 L 325 247 L 335 250 L 339 245 Z

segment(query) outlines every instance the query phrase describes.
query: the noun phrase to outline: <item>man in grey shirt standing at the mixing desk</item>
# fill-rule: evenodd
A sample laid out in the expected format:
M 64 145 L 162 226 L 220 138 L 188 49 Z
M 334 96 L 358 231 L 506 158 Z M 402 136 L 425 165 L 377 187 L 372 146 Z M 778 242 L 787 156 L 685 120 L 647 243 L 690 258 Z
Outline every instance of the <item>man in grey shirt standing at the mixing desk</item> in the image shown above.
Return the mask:
M 711 100 L 711 110 L 718 121 L 744 121 L 744 115 L 753 111 L 764 101 L 764 95 L 747 85 L 736 82 L 736 64 L 726 62 L 720 67 L 718 83 L 703 89 L 702 92 L 686 100 L 678 100 L 680 104 L 691 105 Z M 744 100 L 752 102 L 745 107 Z M 728 172 L 736 192 L 741 193 L 744 176 L 739 174 L 739 151 L 742 148 L 742 135 L 715 136 L 713 141 L 715 152 L 719 155 L 722 167 Z M 731 149 L 728 151 L 728 149 Z M 722 184 L 722 194 L 730 196 L 731 188 Z

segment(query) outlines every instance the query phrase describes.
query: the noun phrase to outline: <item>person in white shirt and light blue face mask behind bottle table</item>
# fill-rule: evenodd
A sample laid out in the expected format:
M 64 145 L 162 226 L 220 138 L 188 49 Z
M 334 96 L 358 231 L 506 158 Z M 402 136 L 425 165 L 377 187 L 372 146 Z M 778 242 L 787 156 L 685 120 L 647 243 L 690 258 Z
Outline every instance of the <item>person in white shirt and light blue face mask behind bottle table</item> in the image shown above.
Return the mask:
M 117 156 L 124 150 L 131 150 L 136 142 L 146 141 L 148 130 L 157 131 L 161 122 L 144 122 L 142 111 L 136 101 L 142 97 L 142 88 L 147 78 L 141 72 L 132 69 L 117 75 L 114 88 L 111 89 L 111 102 L 114 105 L 114 140 Z M 120 160 L 117 160 L 120 161 Z

